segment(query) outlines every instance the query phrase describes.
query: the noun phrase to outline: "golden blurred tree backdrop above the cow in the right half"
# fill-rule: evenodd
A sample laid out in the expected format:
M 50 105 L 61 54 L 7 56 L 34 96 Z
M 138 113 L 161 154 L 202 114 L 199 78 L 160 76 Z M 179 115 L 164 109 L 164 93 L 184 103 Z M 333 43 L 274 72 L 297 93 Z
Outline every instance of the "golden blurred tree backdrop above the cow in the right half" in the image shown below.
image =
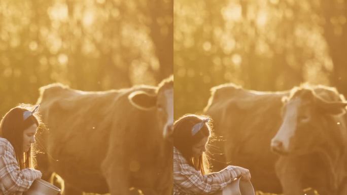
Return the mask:
M 322 2 L 175 1 L 175 118 L 201 111 L 209 89 L 226 82 L 254 90 L 286 90 L 310 82 L 343 92 L 345 66 L 329 52 L 322 21 L 327 17 L 323 10 L 340 16 L 345 8 L 342 0 L 335 0 L 335 7 Z M 342 62 L 346 38 L 338 39 L 332 52 Z

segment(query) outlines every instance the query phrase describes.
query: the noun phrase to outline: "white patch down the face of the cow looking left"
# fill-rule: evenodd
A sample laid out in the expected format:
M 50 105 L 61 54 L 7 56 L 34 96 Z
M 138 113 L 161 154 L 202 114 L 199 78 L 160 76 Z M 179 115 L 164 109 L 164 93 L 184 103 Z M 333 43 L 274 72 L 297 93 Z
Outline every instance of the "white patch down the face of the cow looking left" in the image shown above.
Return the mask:
M 300 99 L 295 99 L 287 103 L 282 125 L 271 140 L 271 149 L 279 153 L 288 153 L 290 140 L 295 135 L 297 128 L 298 108 Z

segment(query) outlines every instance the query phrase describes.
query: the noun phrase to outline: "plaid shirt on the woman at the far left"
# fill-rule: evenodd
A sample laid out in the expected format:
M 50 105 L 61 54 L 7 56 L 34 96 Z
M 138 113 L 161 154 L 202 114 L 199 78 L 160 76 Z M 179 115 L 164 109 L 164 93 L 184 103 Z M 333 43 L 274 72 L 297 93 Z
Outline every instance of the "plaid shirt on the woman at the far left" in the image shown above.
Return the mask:
M 13 146 L 0 138 L 0 195 L 20 195 L 38 178 L 37 170 L 19 169 Z

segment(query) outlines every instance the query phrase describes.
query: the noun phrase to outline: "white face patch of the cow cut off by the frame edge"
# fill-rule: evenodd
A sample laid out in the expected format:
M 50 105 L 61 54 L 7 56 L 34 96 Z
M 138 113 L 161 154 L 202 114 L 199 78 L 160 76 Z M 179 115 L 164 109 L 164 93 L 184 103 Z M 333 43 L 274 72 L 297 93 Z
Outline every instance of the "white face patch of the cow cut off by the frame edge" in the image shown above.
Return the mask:
M 163 137 L 169 138 L 172 135 L 172 125 L 173 125 L 173 89 L 167 89 L 164 91 L 164 96 L 166 100 L 166 116 L 167 120 L 163 129 Z

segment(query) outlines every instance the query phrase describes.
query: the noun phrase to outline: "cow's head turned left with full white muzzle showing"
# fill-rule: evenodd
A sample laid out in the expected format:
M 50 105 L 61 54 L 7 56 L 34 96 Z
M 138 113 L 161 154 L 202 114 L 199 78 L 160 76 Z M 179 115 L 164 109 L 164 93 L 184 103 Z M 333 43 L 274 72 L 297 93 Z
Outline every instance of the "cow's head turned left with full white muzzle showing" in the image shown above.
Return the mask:
M 271 140 L 271 150 L 284 155 L 310 153 L 325 144 L 340 129 L 335 115 L 345 113 L 347 105 L 331 88 L 295 88 L 283 102 L 283 121 Z

